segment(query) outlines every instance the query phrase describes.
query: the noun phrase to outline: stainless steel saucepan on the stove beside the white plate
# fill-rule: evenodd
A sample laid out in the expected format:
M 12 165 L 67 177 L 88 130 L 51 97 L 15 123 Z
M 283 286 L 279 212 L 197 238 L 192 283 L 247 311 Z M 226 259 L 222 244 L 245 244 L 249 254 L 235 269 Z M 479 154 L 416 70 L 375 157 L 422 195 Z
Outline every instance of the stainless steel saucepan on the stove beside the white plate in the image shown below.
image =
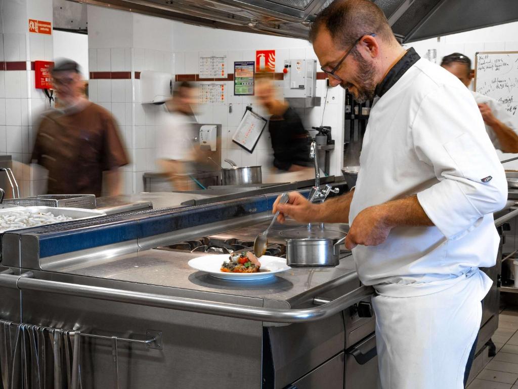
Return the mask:
M 292 268 L 327 268 L 340 263 L 340 244 L 336 238 L 286 239 L 286 263 Z

